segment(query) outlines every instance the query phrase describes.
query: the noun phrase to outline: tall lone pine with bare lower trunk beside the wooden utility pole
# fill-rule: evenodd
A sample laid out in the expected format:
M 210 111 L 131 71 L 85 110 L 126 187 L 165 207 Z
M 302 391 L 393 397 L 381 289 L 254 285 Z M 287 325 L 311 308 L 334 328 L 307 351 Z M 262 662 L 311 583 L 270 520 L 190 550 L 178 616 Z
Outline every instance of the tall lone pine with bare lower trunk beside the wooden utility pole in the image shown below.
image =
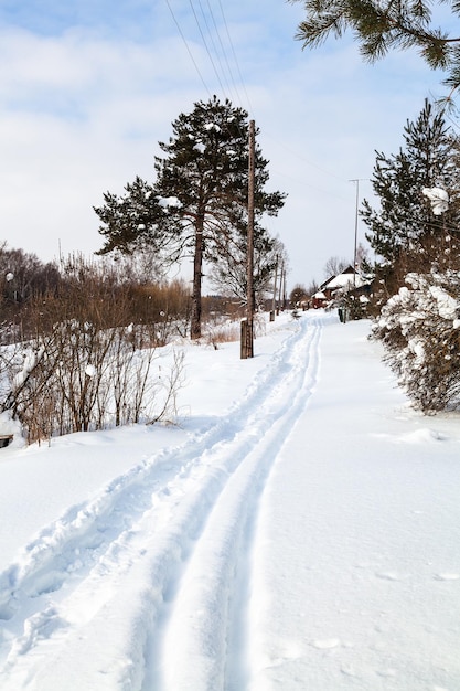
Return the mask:
M 137 178 L 126 195 L 107 193 L 105 206 L 95 209 L 106 238 L 99 253 L 129 253 L 148 243 L 164 262 L 192 256 L 191 336 L 200 338 L 204 263 L 218 264 L 247 227 L 248 114 L 214 96 L 181 114 L 172 131 L 168 142 L 159 142 L 164 156 L 154 159 L 156 182 Z M 261 234 L 263 215 L 276 215 L 285 196 L 265 191 L 267 166 L 256 146 L 255 224 Z

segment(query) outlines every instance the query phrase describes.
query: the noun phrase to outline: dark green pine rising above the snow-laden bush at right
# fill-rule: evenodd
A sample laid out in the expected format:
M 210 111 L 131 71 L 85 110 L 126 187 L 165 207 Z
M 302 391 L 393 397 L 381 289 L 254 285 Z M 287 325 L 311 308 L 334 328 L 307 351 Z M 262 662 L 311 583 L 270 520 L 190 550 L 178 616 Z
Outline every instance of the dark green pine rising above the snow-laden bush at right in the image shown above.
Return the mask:
M 408 272 L 428 272 L 434 263 L 451 265 L 454 255 L 446 254 L 446 242 L 453 249 L 460 220 L 456 192 L 459 176 L 453 161 L 456 140 L 443 116 L 428 100 L 417 120 L 407 121 L 404 141 L 405 147 L 397 155 L 376 152 L 372 185 L 379 209 L 364 200 L 361 211 L 368 227 L 366 238 L 381 257 L 376 276 L 377 286 L 384 285 L 385 297 L 397 291 Z M 434 215 L 422 194 L 424 188 L 432 187 L 442 188 L 451 198 L 450 208 L 442 216 Z

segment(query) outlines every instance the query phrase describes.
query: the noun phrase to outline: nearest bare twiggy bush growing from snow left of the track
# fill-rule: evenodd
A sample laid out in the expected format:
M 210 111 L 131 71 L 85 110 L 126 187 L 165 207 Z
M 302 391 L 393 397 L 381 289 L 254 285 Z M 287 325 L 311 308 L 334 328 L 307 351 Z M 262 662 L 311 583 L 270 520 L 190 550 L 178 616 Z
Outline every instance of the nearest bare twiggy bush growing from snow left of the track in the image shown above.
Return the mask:
M 182 358 L 153 371 L 158 349 L 145 327 L 98 330 L 60 322 L 9 359 L 3 408 L 20 419 L 29 443 L 72 432 L 173 419 Z

